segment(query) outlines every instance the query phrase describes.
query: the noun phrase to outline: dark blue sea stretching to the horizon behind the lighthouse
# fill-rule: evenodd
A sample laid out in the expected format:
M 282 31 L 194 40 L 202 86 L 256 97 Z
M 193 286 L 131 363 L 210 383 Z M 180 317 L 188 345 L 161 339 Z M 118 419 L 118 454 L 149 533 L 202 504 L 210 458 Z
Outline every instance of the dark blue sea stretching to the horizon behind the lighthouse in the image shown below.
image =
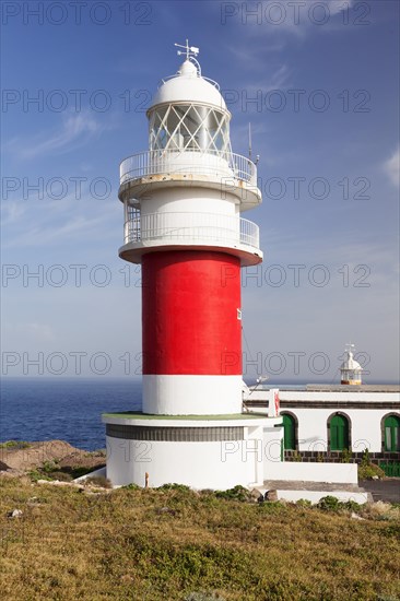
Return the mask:
M 296 387 L 305 384 L 290 382 Z M 58 439 L 80 449 L 104 449 L 102 413 L 140 411 L 142 406 L 142 380 L 131 377 L 2 378 L 0 392 L 0 443 Z

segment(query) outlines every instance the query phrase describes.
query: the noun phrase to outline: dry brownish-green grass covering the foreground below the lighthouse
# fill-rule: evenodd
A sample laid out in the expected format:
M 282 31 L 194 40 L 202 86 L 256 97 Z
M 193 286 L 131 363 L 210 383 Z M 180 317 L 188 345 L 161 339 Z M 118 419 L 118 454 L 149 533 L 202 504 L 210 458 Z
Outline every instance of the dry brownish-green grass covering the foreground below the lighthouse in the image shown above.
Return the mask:
M 331 503 L 257 504 L 239 493 L 167 485 L 86 495 L 3 479 L 2 599 L 400 599 L 399 508 L 372 506 L 354 520 Z M 22 517 L 8 518 L 15 508 Z

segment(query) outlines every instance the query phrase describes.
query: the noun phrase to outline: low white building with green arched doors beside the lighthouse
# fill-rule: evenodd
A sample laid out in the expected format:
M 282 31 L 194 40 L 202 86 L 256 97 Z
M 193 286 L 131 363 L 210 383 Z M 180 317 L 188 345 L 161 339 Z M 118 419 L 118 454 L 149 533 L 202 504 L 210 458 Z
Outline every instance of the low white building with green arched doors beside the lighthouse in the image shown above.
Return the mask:
M 341 461 L 349 450 L 358 461 L 365 449 L 386 466 L 400 462 L 400 387 L 383 385 L 307 385 L 280 388 L 286 460 Z M 268 387 L 252 388 L 249 410 L 269 405 Z

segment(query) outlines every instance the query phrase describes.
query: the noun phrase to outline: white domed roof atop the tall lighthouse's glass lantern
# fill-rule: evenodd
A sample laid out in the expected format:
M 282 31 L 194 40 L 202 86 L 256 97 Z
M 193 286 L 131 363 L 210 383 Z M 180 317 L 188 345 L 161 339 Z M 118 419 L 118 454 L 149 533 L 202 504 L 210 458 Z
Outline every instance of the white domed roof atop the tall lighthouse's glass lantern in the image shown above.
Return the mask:
M 201 76 L 189 59 L 185 60 L 176 75 L 163 81 L 149 111 L 156 105 L 175 103 L 208 105 L 228 113 L 217 84 Z

